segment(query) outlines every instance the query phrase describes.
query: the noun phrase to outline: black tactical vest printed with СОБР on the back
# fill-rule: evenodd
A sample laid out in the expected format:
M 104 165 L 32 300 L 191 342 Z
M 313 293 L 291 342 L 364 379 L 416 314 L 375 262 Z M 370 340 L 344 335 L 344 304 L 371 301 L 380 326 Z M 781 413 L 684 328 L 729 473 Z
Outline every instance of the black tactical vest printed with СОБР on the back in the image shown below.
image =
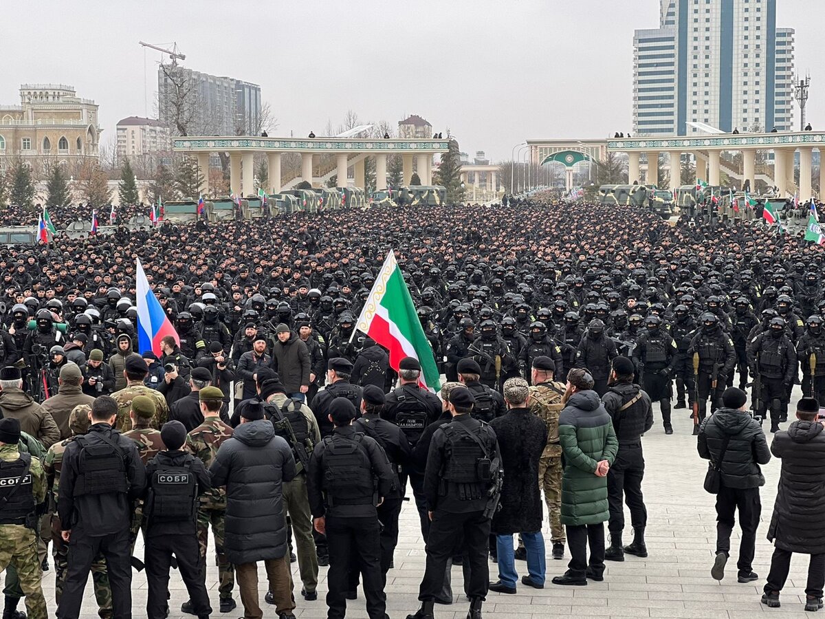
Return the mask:
M 166 465 L 153 472 L 145 508 L 151 522 L 194 522 L 198 492 L 198 482 L 191 470 L 194 460 L 187 454 L 183 465 Z

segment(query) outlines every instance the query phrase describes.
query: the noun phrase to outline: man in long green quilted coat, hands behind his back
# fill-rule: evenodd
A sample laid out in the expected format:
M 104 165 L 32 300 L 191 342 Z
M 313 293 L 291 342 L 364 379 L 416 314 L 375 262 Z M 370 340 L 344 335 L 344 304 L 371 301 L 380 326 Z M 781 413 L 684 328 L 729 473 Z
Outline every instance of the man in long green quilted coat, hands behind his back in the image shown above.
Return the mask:
M 607 471 L 619 449 L 613 423 L 593 390 L 586 369 L 568 373 L 564 409 L 559 413 L 562 446 L 562 524 L 567 528 L 572 559 L 568 570 L 553 584 L 585 585 L 587 579 L 604 580 Z M 587 561 L 587 545 L 590 561 Z

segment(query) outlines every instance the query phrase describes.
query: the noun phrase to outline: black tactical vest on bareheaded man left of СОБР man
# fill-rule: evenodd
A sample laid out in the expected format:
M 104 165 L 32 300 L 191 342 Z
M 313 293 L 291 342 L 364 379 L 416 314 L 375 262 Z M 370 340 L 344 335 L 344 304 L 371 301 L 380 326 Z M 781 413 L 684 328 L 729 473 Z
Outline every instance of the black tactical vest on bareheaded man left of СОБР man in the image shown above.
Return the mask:
M 78 456 L 78 480 L 74 484 L 74 496 L 86 494 L 125 494 L 129 491 L 126 480 L 125 453 L 122 448 L 97 433 L 102 442 L 91 444 L 88 436 L 76 437 Z

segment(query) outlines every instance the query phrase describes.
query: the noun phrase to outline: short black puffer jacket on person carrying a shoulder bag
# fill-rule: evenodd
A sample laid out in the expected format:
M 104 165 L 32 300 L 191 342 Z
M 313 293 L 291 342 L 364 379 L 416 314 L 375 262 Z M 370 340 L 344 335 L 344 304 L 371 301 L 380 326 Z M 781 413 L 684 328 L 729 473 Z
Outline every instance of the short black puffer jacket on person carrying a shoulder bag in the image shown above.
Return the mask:
M 718 409 L 699 428 L 699 455 L 717 461 L 726 436 L 730 442 L 722 461 L 722 483 L 740 489 L 765 485 L 759 465 L 771 460 L 771 451 L 759 422 L 741 410 Z

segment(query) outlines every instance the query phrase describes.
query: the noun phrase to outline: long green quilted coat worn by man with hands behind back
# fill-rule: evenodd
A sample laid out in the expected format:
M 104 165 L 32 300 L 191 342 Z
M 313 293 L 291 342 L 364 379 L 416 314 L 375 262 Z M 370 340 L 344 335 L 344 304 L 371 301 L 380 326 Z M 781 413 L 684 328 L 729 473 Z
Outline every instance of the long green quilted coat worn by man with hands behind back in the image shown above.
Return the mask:
M 580 526 L 605 522 L 607 478 L 598 477 L 596 464 L 613 464 L 619 442 L 610 415 L 596 391 L 579 391 L 559 414 L 562 446 L 562 524 Z

